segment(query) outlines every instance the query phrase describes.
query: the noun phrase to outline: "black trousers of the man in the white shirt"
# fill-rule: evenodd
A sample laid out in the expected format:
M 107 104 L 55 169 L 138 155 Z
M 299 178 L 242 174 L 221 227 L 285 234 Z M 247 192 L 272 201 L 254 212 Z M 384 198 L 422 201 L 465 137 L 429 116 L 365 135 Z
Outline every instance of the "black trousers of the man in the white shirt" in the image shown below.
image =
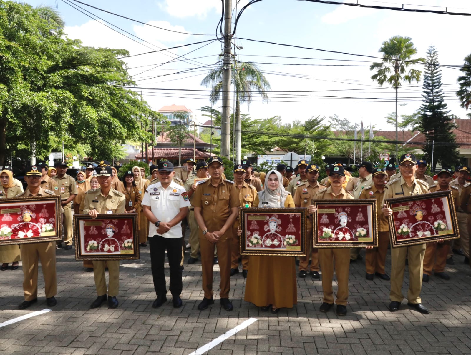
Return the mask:
M 181 245 L 182 238 L 164 238 L 161 235 L 154 235 L 149 238 L 150 261 L 152 269 L 152 278 L 154 279 L 154 289 L 157 296 L 163 296 L 167 293 L 165 287 L 165 250 L 169 258 L 170 265 L 170 293 L 172 296 L 179 296 L 183 289 L 181 279 Z

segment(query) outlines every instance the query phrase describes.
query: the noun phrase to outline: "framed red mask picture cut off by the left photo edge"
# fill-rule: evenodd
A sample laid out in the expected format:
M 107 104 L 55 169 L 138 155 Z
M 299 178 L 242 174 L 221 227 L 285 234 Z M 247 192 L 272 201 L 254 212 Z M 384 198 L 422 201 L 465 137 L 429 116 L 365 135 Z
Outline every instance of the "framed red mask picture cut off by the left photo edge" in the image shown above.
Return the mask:
M 0 200 L 0 245 L 62 241 L 60 196 Z

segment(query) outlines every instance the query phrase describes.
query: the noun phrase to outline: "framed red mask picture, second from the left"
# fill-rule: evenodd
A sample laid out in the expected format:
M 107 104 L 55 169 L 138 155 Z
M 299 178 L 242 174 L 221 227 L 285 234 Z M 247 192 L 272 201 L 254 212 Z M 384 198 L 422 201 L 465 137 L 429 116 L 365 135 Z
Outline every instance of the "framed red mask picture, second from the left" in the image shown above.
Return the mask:
M 73 236 L 77 260 L 139 258 L 136 213 L 74 215 Z

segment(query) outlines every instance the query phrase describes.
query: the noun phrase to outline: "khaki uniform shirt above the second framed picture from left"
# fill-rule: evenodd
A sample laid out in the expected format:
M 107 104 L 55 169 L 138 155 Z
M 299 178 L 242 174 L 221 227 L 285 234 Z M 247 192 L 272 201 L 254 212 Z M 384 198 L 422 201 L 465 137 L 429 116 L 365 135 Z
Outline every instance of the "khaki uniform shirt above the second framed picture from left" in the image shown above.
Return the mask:
M 83 199 L 83 213 L 88 214 L 90 210 L 97 210 L 97 213 L 124 213 L 126 198 L 124 194 L 110 189 L 108 196 L 101 193 L 101 188 L 91 189 L 85 194 Z

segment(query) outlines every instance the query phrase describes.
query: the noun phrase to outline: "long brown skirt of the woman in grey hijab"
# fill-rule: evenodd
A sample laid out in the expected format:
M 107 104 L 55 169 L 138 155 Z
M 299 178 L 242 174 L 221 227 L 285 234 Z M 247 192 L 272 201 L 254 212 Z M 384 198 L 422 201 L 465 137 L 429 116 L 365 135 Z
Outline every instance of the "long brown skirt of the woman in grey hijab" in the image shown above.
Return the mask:
M 257 307 L 292 308 L 298 303 L 294 257 L 250 256 L 244 300 Z

